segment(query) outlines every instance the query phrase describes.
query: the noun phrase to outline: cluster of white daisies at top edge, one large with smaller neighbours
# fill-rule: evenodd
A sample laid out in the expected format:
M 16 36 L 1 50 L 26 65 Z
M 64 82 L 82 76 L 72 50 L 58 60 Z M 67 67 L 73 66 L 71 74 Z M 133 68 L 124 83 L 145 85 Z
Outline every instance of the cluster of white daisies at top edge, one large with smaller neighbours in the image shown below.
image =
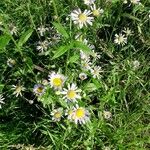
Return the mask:
M 79 28 L 83 28 L 87 25 L 92 25 L 94 17 L 98 17 L 104 12 L 103 9 L 97 8 L 94 2 L 95 0 L 84 0 L 84 4 L 90 6 L 90 10 L 85 9 L 84 11 L 81 11 L 81 9 L 78 8 L 71 12 L 71 19 L 73 23 Z

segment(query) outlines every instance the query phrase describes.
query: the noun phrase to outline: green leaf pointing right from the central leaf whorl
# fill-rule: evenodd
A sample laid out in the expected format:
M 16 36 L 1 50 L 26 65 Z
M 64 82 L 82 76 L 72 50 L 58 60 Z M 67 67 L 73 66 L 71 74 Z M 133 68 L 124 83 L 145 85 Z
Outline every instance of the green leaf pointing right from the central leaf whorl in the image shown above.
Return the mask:
M 83 52 L 92 55 L 91 49 L 80 41 L 74 41 L 74 48 L 81 49 Z

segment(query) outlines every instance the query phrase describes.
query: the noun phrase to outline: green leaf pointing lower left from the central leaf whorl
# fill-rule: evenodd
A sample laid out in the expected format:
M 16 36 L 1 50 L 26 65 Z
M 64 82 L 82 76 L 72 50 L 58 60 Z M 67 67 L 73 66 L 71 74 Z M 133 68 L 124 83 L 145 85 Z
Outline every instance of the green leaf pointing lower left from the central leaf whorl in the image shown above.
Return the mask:
M 61 55 L 63 55 L 65 52 L 67 52 L 69 49 L 73 48 L 73 45 L 70 44 L 70 45 L 66 45 L 66 46 L 60 46 L 58 48 L 58 50 L 55 52 L 54 56 L 52 59 L 55 59 L 55 58 L 58 58 L 60 57 Z

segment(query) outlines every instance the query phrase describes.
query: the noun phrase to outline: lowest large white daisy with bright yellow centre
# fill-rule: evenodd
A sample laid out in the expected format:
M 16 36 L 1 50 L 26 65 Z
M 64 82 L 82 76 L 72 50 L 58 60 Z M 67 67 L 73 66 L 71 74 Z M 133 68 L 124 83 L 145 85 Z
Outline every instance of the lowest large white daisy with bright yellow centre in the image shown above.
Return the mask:
M 89 111 L 83 107 L 79 107 L 78 105 L 76 105 L 76 107 L 73 110 L 73 113 L 70 115 L 75 124 L 85 124 L 87 121 L 90 120 L 89 116 Z

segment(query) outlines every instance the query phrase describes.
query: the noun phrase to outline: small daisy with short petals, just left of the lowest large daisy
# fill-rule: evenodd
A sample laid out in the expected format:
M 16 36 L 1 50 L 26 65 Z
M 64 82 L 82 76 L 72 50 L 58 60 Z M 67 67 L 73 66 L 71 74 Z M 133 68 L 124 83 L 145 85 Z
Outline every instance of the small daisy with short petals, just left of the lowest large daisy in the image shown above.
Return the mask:
M 51 115 L 53 121 L 60 121 L 63 115 L 63 108 L 54 109 Z

